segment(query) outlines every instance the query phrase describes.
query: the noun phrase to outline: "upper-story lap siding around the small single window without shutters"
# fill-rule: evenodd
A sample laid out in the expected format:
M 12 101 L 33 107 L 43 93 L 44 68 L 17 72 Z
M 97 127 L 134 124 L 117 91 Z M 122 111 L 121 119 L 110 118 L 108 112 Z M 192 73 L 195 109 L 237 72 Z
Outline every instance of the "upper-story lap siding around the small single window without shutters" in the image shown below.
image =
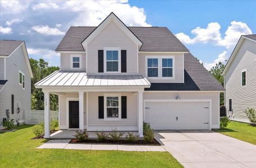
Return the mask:
M 70 70 L 74 70 L 74 71 L 85 71 L 85 67 L 86 67 L 86 59 L 85 59 L 85 54 L 80 54 L 81 55 L 81 59 L 82 59 L 82 68 L 81 69 L 71 69 L 71 55 L 75 55 L 75 54 L 70 54 L 70 53 L 61 53 L 61 70 L 63 71 L 70 71 Z M 79 54 L 77 54 L 79 55 Z

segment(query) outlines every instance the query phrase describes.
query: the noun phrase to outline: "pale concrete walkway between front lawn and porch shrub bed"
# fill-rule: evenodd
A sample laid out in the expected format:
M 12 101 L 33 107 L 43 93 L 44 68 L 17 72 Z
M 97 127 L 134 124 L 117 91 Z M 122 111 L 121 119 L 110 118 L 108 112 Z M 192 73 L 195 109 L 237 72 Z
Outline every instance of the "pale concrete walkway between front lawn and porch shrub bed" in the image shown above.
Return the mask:
M 71 143 L 71 139 L 54 139 L 45 142 L 38 149 L 65 149 L 65 150 L 117 150 L 117 151 L 157 151 L 166 152 L 162 146 L 144 146 L 144 145 L 122 145 L 122 144 L 83 144 Z

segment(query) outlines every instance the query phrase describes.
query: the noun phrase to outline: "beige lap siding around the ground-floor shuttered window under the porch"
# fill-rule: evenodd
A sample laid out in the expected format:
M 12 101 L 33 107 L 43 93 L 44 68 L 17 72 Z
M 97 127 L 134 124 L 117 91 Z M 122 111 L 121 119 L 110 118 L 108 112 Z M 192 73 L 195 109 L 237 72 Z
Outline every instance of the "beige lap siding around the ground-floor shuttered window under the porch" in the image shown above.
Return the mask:
M 118 121 L 106 121 L 98 118 L 98 96 L 104 96 L 102 92 L 89 92 L 88 94 L 88 127 L 128 127 L 138 125 L 138 101 L 137 95 L 131 92 L 124 92 L 127 96 L 127 119 Z M 121 110 L 121 109 L 120 109 Z

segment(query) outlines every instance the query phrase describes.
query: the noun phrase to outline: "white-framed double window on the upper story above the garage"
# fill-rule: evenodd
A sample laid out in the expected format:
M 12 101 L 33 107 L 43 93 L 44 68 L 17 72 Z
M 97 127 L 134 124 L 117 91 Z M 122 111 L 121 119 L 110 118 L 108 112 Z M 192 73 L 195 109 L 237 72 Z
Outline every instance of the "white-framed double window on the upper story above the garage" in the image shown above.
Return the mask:
M 174 78 L 174 57 L 146 56 L 146 76 L 152 79 Z

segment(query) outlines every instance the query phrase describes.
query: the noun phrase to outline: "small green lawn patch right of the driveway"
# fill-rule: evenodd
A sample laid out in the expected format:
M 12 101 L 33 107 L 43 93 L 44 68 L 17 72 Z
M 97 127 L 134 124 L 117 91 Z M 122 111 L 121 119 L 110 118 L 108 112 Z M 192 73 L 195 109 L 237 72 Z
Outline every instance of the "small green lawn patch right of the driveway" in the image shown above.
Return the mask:
M 215 131 L 256 145 L 256 127 L 248 123 L 230 122 L 226 129 Z

